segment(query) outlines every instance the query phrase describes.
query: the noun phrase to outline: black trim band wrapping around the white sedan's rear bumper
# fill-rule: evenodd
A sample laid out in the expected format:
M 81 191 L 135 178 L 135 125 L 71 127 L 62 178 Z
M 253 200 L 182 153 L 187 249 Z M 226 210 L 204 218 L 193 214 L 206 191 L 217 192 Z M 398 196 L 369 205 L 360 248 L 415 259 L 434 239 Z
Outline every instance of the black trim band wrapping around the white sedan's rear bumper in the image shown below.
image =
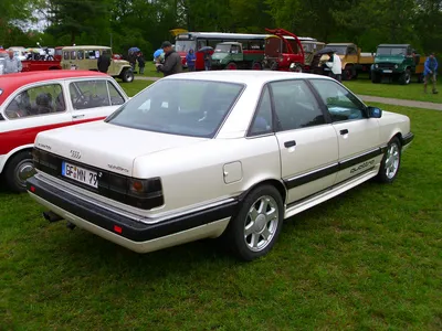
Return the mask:
M 151 241 L 230 217 L 236 213 L 239 204 L 238 201 L 233 201 L 178 217 L 167 218 L 157 224 L 145 224 L 78 199 L 35 177 L 28 180 L 27 186 L 28 191 L 57 207 L 133 242 Z M 148 218 L 144 220 L 148 221 Z M 122 233 L 114 231 L 115 225 L 122 228 Z

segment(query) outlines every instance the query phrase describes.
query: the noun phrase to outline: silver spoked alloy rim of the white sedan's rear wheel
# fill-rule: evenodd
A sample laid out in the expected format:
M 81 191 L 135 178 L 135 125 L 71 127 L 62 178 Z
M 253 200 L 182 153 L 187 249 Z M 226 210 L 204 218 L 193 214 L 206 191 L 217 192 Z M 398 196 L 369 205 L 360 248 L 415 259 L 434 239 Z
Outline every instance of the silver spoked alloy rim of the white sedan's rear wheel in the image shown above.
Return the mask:
M 244 242 L 252 252 L 261 252 L 273 241 L 280 222 L 276 201 L 264 195 L 249 210 L 244 221 Z

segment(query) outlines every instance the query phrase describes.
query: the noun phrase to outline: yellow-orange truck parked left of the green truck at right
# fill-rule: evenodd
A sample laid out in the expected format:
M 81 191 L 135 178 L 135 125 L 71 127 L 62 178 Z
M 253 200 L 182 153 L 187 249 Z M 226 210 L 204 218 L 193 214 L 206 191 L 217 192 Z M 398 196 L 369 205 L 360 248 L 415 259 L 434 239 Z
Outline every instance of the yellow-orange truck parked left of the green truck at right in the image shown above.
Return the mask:
M 356 79 L 361 72 L 370 73 L 370 67 L 375 63 L 375 54 L 362 53 L 354 43 L 329 43 L 326 47 L 335 50 L 336 54 L 339 55 L 344 81 Z M 324 55 L 324 57 L 326 56 Z

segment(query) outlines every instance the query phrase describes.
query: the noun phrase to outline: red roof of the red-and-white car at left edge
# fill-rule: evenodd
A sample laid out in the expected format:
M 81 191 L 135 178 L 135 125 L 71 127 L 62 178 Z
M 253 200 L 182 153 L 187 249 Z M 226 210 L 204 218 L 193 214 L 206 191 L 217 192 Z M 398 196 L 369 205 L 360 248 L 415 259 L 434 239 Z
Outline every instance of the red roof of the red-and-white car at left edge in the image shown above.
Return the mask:
M 92 71 L 41 71 L 41 72 L 28 72 L 18 74 L 0 75 L 0 88 L 3 90 L 0 95 L 0 105 L 6 98 L 13 93 L 15 89 L 23 85 L 54 81 L 54 79 L 69 79 L 80 77 L 108 77 L 108 75 L 92 72 Z

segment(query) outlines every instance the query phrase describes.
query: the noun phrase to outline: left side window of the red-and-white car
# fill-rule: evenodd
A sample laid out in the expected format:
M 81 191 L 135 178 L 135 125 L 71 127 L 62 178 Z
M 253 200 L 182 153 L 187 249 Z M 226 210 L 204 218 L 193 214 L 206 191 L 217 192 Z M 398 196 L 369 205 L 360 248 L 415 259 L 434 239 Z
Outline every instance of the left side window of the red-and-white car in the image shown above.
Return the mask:
M 62 86 L 48 84 L 21 92 L 4 110 L 9 119 L 50 115 L 66 110 Z

